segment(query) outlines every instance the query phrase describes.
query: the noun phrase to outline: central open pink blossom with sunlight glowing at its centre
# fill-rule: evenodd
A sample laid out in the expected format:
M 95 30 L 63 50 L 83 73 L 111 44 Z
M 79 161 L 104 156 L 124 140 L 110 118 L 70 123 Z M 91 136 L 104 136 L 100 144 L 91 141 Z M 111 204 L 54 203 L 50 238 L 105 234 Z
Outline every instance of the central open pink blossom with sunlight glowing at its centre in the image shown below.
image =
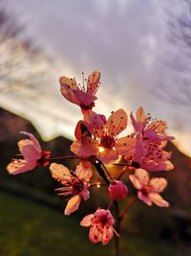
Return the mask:
M 123 109 L 113 112 L 107 122 L 95 113 L 90 116 L 90 120 L 91 123 L 86 125 L 89 136 L 75 135 L 77 141 L 71 146 L 74 153 L 84 157 L 96 155 L 102 162 L 109 163 L 117 160 L 118 154 L 131 151 L 135 139 L 127 136 L 118 138 L 118 134 L 127 127 L 127 114 Z

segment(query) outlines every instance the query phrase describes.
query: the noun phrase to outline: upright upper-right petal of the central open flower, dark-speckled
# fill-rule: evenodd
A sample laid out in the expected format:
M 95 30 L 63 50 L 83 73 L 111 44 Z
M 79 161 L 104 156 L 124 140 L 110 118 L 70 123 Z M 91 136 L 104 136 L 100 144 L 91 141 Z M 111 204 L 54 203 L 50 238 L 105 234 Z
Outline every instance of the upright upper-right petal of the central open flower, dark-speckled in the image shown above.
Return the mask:
M 127 114 L 123 109 L 118 109 L 109 117 L 106 124 L 108 135 L 116 137 L 118 133 L 127 127 Z

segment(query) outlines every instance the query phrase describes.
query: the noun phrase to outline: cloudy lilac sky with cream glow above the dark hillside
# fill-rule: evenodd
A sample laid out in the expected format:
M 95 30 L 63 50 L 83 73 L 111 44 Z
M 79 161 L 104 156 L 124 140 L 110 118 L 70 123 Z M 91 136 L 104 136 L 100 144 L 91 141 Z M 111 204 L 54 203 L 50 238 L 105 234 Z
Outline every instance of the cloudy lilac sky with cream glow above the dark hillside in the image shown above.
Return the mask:
M 48 67 L 47 83 L 33 88 L 35 100 L 10 94 L 0 96 L 0 105 L 31 120 L 47 140 L 60 134 L 74 138 L 80 110 L 62 98 L 58 79 L 80 81 L 82 71 L 88 76 L 99 70 L 97 112 L 104 109 L 108 116 L 124 108 L 129 114 L 141 105 L 153 118 L 168 122 L 168 132 L 176 137 L 180 150 L 191 156 L 191 47 L 175 35 L 179 28 L 174 22 L 174 17 L 179 20 L 190 14 L 184 1 L 4 2 L 25 24 L 25 36 L 53 64 Z

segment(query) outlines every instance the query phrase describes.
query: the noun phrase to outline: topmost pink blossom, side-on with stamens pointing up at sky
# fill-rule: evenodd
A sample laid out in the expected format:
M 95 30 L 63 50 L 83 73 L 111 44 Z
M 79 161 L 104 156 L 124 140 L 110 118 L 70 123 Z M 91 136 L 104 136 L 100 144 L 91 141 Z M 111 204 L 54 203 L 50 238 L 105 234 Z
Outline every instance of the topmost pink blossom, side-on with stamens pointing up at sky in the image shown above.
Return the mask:
M 83 73 L 82 73 L 83 74 Z M 75 79 L 69 79 L 61 77 L 60 91 L 61 94 L 69 102 L 79 105 L 82 110 L 92 109 L 95 106 L 96 91 L 99 86 L 100 73 L 98 71 L 93 72 L 86 81 L 86 87 L 83 84 L 77 84 Z

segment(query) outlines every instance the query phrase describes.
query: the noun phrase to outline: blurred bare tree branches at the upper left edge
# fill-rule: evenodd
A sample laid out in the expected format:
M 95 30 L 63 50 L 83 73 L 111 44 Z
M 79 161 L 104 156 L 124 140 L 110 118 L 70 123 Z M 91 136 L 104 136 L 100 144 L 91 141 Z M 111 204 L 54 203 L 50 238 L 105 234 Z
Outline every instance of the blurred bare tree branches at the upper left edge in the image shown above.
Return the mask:
M 35 97 L 39 84 L 47 82 L 50 59 L 25 36 L 26 27 L 6 11 L 0 1 L 0 90 L 1 94 Z

